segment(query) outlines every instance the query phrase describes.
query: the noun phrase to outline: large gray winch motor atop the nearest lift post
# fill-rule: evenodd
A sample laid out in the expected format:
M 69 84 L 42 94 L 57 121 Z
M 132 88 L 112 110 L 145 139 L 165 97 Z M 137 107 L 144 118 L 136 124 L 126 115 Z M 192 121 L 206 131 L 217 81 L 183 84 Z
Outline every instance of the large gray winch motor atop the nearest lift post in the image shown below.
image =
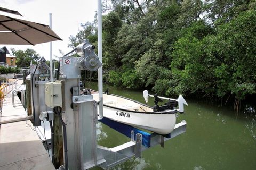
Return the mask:
M 95 46 L 89 43 L 88 39 L 84 39 L 83 43 L 76 47 L 76 53 L 81 56 L 78 59 L 79 68 L 81 70 L 96 71 L 102 66 L 101 61 L 94 52 Z

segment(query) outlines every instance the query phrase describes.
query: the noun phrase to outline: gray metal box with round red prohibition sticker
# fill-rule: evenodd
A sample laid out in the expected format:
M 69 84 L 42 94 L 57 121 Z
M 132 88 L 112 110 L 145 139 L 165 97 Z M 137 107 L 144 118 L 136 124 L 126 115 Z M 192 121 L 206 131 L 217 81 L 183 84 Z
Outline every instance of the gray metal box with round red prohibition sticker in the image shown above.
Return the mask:
M 78 57 L 60 57 L 60 78 L 79 79 L 80 69 L 77 63 Z

